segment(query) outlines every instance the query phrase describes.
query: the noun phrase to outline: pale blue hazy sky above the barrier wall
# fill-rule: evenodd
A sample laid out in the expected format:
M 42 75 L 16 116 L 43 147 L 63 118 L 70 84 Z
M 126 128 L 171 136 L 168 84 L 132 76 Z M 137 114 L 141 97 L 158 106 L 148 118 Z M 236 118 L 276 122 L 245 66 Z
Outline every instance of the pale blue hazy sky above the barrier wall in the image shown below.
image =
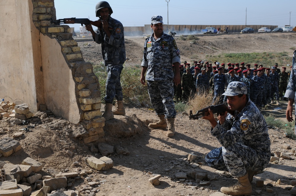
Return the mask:
M 168 0 L 167 0 L 168 1 Z M 57 19 L 97 20 L 95 0 L 55 0 Z M 109 0 L 113 14 L 124 27 L 151 24 L 153 15 L 169 25 L 289 25 L 296 26 L 296 0 Z M 247 12 L 246 12 L 247 8 Z M 78 30 L 80 25 L 69 25 Z

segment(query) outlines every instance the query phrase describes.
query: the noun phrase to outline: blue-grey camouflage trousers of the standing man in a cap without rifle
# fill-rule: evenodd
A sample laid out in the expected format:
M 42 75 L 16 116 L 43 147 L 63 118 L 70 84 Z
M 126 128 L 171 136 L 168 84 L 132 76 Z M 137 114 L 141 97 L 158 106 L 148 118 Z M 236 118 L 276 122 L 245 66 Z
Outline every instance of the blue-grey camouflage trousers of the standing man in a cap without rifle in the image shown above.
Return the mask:
M 164 114 L 165 118 L 174 118 L 176 116 L 176 110 L 173 100 L 173 81 L 147 81 L 147 87 L 150 101 L 156 114 Z

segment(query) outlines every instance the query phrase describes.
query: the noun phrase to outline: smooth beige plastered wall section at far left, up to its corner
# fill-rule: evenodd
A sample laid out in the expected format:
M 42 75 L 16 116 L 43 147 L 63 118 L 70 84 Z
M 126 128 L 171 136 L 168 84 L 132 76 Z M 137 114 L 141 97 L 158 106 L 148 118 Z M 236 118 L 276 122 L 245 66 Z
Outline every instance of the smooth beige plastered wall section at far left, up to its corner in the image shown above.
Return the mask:
M 0 1 L 0 98 L 27 103 L 36 112 L 44 99 L 39 31 L 32 10 L 30 0 Z

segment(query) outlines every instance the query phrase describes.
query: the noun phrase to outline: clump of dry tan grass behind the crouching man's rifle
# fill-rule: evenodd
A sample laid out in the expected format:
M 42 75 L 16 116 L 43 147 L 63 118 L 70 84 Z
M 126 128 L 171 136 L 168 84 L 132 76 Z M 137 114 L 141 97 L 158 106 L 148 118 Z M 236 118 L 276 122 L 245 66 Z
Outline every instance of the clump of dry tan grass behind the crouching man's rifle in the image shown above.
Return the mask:
M 208 107 L 210 105 L 216 105 L 218 100 L 219 97 L 217 97 L 215 103 L 212 104 L 213 95 L 211 93 L 195 94 L 193 98 L 189 99 L 189 107 L 186 108 L 186 112 L 189 114 L 189 111 L 192 110 L 192 113 L 195 114 L 198 110 L 201 110 L 202 108 Z

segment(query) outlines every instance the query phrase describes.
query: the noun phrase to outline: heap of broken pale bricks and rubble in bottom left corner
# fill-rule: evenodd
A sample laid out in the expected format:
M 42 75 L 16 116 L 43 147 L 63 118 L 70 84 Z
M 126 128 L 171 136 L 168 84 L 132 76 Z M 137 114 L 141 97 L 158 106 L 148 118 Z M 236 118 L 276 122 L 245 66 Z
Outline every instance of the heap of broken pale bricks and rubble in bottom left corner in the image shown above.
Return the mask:
M 112 159 L 104 156 L 100 159 L 95 157 L 86 158 L 86 162 L 93 170 L 106 171 L 113 167 Z M 86 177 L 88 186 L 82 190 L 71 190 L 75 180 L 83 178 L 90 171 L 76 171 L 60 173 L 53 176 L 42 175 L 43 166 L 30 157 L 22 161 L 21 164 L 10 164 L 0 161 L 0 195 L 1 196 L 47 196 L 61 195 L 67 196 L 81 195 L 82 192 L 95 193 L 99 191 L 100 182 L 92 182 L 89 177 Z M 77 169 L 80 170 L 80 169 Z M 95 171 L 92 171 L 95 172 Z M 68 189 L 68 190 L 66 190 Z M 75 188 L 74 188 L 75 189 Z

